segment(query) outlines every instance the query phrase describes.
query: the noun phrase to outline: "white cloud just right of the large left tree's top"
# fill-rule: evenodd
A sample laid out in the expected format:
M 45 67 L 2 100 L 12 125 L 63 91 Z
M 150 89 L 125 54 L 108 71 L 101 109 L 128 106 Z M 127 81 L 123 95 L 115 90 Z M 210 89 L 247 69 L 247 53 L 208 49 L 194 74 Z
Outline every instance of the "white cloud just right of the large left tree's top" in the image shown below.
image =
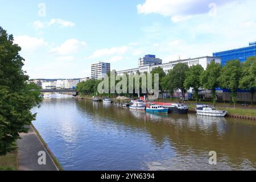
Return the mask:
M 27 35 L 15 36 L 14 43 L 18 44 L 23 51 L 34 51 L 43 46 L 48 46 L 48 43 L 43 38 L 36 38 Z

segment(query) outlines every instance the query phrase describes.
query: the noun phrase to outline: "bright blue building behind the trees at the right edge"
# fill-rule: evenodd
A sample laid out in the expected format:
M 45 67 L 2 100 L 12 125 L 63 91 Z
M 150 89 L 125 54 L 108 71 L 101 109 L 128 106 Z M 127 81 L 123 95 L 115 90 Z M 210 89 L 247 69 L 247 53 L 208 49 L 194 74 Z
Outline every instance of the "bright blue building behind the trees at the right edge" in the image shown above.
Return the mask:
M 221 64 L 226 65 L 226 63 L 230 60 L 240 60 L 243 63 L 246 61 L 248 57 L 256 56 L 255 53 L 256 53 L 256 42 L 252 42 L 252 43 L 249 43 L 249 47 L 216 52 L 216 53 L 213 53 L 213 56 L 221 57 Z

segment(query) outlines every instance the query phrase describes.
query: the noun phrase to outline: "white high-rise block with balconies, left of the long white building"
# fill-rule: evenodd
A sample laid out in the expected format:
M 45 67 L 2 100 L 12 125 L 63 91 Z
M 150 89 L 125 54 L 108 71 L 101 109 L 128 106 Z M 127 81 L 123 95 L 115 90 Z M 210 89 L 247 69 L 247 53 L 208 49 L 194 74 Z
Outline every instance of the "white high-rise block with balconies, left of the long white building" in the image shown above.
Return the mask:
M 110 71 L 110 63 L 99 62 L 91 65 L 91 77 L 92 79 L 102 78 L 103 74 Z

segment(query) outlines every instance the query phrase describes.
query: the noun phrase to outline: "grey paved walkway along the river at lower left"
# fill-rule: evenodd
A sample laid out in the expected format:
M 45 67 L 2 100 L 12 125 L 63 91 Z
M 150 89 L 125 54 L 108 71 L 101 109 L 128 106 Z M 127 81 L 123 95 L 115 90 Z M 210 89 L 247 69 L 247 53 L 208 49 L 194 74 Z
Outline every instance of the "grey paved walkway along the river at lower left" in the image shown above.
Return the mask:
M 57 167 L 50 157 L 46 147 L 42 144 L 35 131 L 31 126 L 27 126 L 29 131 L 27 134 L 20 134 L 22 139 L 17 141 L 19 170 L 20 171 L 57 171 Z M 39 165 L 39 151 L 46 152 L 46 165 Z

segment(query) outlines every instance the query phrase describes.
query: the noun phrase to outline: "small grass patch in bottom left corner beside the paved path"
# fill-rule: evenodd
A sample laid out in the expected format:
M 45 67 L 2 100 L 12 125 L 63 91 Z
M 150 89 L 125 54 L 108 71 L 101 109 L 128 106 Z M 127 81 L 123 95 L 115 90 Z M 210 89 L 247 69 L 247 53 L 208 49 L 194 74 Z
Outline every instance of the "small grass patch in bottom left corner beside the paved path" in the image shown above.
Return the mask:
M 18 149 L 5 156 L 0 156 L 0 171 L 18 170 Z

